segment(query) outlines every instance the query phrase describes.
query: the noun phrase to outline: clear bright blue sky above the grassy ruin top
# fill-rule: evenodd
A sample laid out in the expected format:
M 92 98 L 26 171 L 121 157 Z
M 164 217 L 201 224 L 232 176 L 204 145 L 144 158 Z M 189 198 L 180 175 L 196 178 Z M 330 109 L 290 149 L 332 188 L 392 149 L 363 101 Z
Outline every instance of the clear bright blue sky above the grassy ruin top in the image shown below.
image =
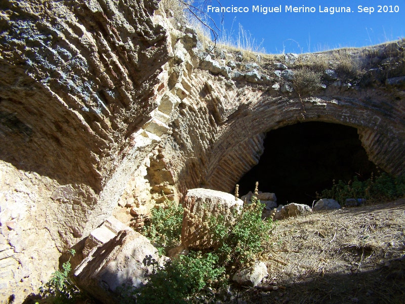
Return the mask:
M 267 53 L 363 47 L 405 37 L 405 0 L 220 0 L 220 3 L 225 8 L 249 9 L 242 13 L 215 13 L 215 9 L 208 12 L 221 30 L 236 39 L 241 24 L 255 39 L 255 44 L 261 45 Z M 206 13 L 208 5 L 220 7 L 217 0 L 211 0 L 205 6 Z M 286 6 L 303 5 L 315 8 L 315 12 L 286 12 Z M 253 12 L 253 6 L 281 6 L 281 12 Z M 319 6 L 321 11 L 325 11 L 325 7 L 350 7 L 352 12 L 330 14 L 319 12 Z M 374 12 L 358 12 L 358 6 L 373 7 Z M 379 9 L 382 12 L 378 12 Z M 391 10 L 399 11 L 391 13 Z

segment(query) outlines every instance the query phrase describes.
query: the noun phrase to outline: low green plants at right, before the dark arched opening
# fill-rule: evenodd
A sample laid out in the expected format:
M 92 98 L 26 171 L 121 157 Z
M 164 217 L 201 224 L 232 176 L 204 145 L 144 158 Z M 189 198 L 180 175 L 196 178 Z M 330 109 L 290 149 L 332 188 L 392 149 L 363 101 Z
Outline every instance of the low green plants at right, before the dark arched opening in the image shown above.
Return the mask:
M 379 171 L 380 172 L 380 171 Z M 383 172 L 377 177 L 372 176 L 364 181 L 358 180 L 357 176 L 353 180 L 345 183 L 333 180 L 332 188 L 316 193 L 317 199 L 331 198 L 344 205 L 346 199 L 362 198 L 370 202 L 385 202 L 395 200 L 405 195 L 405 175 L 393 176 Z

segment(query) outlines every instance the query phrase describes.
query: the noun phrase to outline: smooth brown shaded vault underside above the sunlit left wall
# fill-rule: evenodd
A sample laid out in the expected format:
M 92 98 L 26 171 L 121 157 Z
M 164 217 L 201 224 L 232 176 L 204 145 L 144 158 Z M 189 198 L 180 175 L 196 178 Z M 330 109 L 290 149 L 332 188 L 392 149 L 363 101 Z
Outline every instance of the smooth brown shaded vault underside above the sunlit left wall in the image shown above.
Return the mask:
M 59 184 L 87 184 L 101 189 L 91 157 L 94 138 L 72 112 L 55 101 L 47 90 L 27 75 L 0 71 L 0 159 L 19 170 L 36 172 Z M 16 82 L 10 87 L 4 82 Z

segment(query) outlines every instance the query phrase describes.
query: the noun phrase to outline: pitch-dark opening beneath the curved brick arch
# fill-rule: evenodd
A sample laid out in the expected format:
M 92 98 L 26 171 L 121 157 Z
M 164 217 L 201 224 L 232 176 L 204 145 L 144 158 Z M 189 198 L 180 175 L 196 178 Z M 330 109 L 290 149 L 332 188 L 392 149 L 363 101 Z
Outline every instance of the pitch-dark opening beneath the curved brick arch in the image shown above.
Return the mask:
M 332 180 L 370 178 L 376 166 L 361 146 L 357 129 L 323 122 L 298 123 L 267 133 L 259 164 L 238 182 L 239 194 L 275 193 L 277 204 L 312 205 L 315 192 L 332 186 Z

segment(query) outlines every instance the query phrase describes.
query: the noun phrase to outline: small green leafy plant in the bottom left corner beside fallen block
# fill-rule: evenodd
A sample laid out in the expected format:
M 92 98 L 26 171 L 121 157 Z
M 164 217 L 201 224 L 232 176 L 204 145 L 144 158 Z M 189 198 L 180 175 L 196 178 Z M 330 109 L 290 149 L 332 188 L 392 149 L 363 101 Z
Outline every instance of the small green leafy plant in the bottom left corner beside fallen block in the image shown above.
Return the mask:
M 71 249 L 69 253 L 74 256 L 75 250 Z M 69 278 L 71 271 L 70 258 L 63 263 L 62 271 L 54 272 L 49 282 L 39 288 L 39 293 L 43 298 L 49 299 L 56 304 L 62 304 L 74 303 L 80 297 L 80 290 Z

